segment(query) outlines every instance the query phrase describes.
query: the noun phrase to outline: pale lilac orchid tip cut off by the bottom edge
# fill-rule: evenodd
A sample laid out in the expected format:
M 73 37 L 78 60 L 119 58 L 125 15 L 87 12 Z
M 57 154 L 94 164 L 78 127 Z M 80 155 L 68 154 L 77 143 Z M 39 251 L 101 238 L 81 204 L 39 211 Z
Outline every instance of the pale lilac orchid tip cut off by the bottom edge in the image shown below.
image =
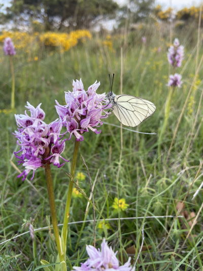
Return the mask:
M 130 258 L 124 265 L 119 264 L 119 260 L 116 257 L 112 248 L 108 247 L 105 239 L 101 243 L 101 250 L 94 248 L 93 246 L 86 246 L 86 251 L 89 256 L 87 261 L 81 263 L 81 266 L 74 266 L 74 270 L 77 271 L 134 271 L 134 267 L 130 265 Z M 74 271 L 72 270 L 72 271 Z

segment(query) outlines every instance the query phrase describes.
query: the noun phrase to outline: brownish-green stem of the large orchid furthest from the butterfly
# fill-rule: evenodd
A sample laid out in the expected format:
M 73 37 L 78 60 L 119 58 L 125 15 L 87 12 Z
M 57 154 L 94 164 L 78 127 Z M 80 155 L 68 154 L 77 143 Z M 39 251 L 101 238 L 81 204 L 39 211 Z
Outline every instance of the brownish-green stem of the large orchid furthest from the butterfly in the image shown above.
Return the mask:
M 45 174 L 46 174 L 46 179 L 47 179 L 47 190 L 48 190 L 49 205 L 50 205 L 50 210 L 51 210 L 51 221 L 53 225 L 54 236 L 56 240 L 56 246 L 57 246 L 59 259 L 60 259 L 60 262 L 62 262 L 64 260 L 64 255 L 62 252 L 61 240 L 60 240 L 60 235 L 59 235 L 58 226 L 57 226 L 53 181 L 52 181 L 52 176 L 51 176 L 50 165 L 48 163 L 45 164 Z

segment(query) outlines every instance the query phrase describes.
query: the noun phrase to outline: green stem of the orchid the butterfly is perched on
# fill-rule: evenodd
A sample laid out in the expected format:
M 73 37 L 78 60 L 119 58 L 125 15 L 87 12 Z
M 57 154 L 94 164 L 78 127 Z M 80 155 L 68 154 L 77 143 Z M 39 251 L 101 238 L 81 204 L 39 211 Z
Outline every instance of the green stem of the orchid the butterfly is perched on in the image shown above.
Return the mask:
M 75 170 L 76 170 L 76 163 L 77 163 L 79 145 L 80 145 L 80 141 L 75 140 L 73 161 L 72 161 L 72 164 L 71 164 L 71 176 L 72 176 L 73 179 L 75 177 Z M 62 249 L 63 249 L 64 255 L 66 254 L 67 226 L 68 226 L 68 223 L 69 223 L 72 192 L 73 192 L 73 182 L 70 179 L 69 190 L 67 191 L 67 198 L 66 198 L 66 204 L 65 204 L 63 227 L 62 227 L 62 233 L 61 233 L 61 243 L 62 243 Z

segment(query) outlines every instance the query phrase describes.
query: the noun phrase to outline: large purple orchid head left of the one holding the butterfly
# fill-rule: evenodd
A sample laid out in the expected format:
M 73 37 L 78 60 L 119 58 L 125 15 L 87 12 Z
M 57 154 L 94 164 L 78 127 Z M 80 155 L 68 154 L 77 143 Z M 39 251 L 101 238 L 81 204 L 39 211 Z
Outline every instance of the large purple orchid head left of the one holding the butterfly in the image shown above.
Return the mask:
M 23 180 L 31 170 L 33 171 L 32 179 L 36 170 L 44 167 L 46 163 L 61 167 L 64 163 L 60 164 L 59 158 L 68 162 L 61 156 L 65 148 L 65 142 L 61 141 L 60 134 L 62 121 L 56 119 L 47 125 L 43 121 L 45 112 L 40 106 L 41 104 L 35 108 L 27 102 L 25 107 L 29 110 L 30 116 L 26 111 L 24 115 L 15 115 L 18 131 L 15 131 L 14 135 L 21 148 L 14 154 L 18 158 L 18 164 L 23 164 L 25 167 L 25 170 L 18 175 L 18 177 L 22 176 Z

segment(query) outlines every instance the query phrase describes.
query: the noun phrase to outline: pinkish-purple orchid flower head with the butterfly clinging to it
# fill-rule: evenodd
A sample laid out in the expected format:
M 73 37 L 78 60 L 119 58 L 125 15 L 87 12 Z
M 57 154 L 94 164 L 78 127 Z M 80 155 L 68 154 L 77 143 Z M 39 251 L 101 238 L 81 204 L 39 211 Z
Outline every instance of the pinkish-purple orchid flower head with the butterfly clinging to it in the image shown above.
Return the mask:
M 111 105 L 105 94 L 96 94 L 99 85 L 100 82 L 94 82 L 85 91 L 81 79 L 73 80 L 73 91 L 65 92 L 66 104 L 62 106 L 56 101 L 56 111 L 62 125 L 70 133 L 69 139 L 74 135 L 78 141 L 83 141 L 82 134 L 89 129 L 96 134 L 100 133 L 96 127 L 103 124 L 101 119 L 109 114 L 104 108 L 108 109 Z

